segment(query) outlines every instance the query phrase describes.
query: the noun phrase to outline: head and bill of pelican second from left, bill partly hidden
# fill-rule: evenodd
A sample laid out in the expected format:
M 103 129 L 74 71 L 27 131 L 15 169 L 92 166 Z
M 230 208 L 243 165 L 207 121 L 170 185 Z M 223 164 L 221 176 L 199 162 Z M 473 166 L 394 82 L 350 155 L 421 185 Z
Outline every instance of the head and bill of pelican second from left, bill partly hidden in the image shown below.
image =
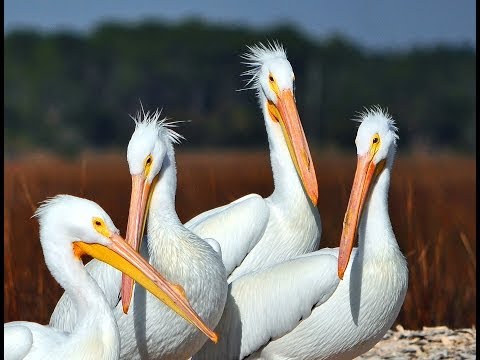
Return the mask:
M 147 209 L 156 181 L 166 163 L 167 154 L 172 151 L 172 143 L 178 143 L 183 137 L 173 131 L 174 122 L 160 119 L 158 109 L 154 113 L 142 110 L 135 117 L 135 131 L 128 143 L 127 161 L 132 176 L 132 192 L 126 238 L 133 249 L 139 251 Z M 122 276 L 122 305 L 127 313 L 133 294 L 133 280 Z

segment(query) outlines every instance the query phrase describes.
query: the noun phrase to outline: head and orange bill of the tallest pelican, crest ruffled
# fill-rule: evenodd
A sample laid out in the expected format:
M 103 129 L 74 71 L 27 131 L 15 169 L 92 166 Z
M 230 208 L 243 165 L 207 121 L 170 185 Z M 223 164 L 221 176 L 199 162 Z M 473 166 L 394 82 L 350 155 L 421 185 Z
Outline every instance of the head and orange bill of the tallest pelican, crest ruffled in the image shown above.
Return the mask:
M 282 45 L 277 42 L 249 46 L 242 57 L 251 69 L 247 88 L 256 89 L 265 120 L 282 130 L 297 174 L 314 205 L 318 202 L 318 184 L 312 157 L 298 115 L 294 95 L 295 75 Z

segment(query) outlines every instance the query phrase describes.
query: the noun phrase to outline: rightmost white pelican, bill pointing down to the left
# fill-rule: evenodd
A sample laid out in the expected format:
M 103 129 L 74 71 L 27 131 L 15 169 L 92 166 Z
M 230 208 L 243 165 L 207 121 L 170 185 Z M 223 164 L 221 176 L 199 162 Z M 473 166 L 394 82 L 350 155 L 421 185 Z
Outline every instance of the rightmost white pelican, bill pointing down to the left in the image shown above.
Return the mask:
M 396 127 L 380 108 L 361 117 L 340 248 L 305 254 L 231 283 L 216 328 L 220 342 L 206 343 L 194 359 L 353 359 L 392 326 L 408 285 L 387 203 Z M 357 229 L 359 245 L 349 259 Z M 332 294 L 337 269 L 343 280 Z

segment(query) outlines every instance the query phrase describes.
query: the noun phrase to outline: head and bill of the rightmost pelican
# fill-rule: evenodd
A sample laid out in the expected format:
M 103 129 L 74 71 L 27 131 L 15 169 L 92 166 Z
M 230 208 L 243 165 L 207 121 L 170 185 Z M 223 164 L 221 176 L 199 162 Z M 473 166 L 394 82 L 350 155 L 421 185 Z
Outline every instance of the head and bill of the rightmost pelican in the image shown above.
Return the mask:
M 340 279 L 343 279 L 350 260 L 365 200 L 385 167 L 391 167 L 398 139 L 395 122 L 380 107 L 366 110 L 358 121 L 361 124 L 355 139 L 357 170 L 343 220 L 338 257 Z

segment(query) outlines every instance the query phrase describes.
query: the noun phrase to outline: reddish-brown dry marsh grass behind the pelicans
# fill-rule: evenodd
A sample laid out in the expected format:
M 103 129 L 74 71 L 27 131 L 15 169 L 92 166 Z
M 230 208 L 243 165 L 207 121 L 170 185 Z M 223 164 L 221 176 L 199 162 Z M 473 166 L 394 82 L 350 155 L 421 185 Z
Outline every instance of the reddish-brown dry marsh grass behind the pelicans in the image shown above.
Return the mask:
M 338 246 L 355 171 L 354 156 L 314 156 L 322 247 Z M 177 155 L 177 211 L 186 221 L 247 193 L 267 196 L 273 181 L 267 152 Z M 68 193 L 98 202 L 125 231 L 130 177 L 123 155 L 76 161 L 29 156 L 4 165 L 4 321 L 47 323 L 62 293 L 44 264 L 38 202 Z M 400 157 L 390 215 L 407 257 L 410 283 L 397 323 L 406 328 L 476 324 L 475 159 Z

